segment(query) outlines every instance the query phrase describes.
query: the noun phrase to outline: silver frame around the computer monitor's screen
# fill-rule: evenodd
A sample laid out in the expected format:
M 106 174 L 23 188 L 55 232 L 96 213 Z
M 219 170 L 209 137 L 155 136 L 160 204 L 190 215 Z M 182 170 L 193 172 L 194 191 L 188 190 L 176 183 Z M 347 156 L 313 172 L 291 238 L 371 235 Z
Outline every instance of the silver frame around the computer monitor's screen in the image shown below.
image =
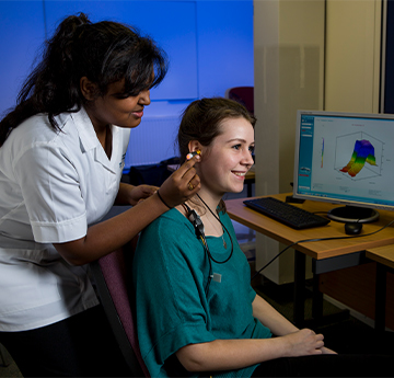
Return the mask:
M 326 202 L 335 205 L 344 205 L 344 206 L 355 206 L 355 207 L 363 207 L 371 208 L 375 210 L 391 210 L 394 211 L 394 205 L 381 205 L 381 204 L 372 204 L 362 201 L 351 201 L 351 199 L 343 199 L 335 197 L 321 197 L 309 194 L 300 194 L 298 192 L 298 167 L 299 167 L 299 158 L 300 158 L 300 128 L 301 128 L 301 117 L 302 115 L 322 115 L 322 116 L 338 116 L 338 117 L 359 117 L 359 118 L 381 118 L 381 119 L 391 119 L 394 121 L 393 114 L 386 113 L 350 113 L 350 112 L 331 112 L 331 111 L 305 111 L 299 110 L 297 111 L 297 125 L 296 125 L 296 148 L 294 148 L 294 171 L 293 171 L 293 197 L 299 199 L 309 199 L 309 201 L 317 201 L 317 202 Z M 393 129 L 394 133 L 394 129 Z

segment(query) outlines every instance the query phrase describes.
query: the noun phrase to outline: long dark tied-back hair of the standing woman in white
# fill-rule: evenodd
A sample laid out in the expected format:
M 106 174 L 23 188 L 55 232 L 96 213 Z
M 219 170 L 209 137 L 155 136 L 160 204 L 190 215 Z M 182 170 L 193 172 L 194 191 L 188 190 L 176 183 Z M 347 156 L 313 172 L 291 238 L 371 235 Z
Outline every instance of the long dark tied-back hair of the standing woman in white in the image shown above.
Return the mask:
M 0 147 L 12 129 L 38 113 L 47 114 L 58 130 L 55 117 L 78 112 L 85 102 L 82 77 L 97 84 L 97 96 L 124 79 L 127 98 L 158 85 L 166 70 L 165 53 L 136 30 L 109 21 L 91 23 L 83 13 L 68 16 L 46 42 L 43 59 L 22 87 L 16 106 L 0 122 Z

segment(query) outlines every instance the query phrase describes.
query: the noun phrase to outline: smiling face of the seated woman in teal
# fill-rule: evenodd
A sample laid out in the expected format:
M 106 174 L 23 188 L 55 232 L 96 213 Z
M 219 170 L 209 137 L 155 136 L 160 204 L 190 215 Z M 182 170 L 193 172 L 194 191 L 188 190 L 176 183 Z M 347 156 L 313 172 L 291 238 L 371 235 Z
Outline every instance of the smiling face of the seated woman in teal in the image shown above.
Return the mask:
M 225 118 L 220 130 L 209 147 L 201 147 L 201 161 L 197 164 L 201 191 L 217 198 L 227 192 L 243 191 L 254 150 L 254 128 L 245 118 Z

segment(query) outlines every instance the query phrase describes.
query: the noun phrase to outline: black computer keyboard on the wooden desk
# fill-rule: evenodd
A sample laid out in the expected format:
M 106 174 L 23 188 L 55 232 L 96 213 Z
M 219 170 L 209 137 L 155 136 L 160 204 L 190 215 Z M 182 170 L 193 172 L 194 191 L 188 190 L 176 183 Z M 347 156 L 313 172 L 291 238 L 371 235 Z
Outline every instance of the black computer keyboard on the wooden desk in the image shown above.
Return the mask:
M 245 199 L 244 204 L 297 230 L 322 227 L 329 224 L 328 219 L 274 197 Z

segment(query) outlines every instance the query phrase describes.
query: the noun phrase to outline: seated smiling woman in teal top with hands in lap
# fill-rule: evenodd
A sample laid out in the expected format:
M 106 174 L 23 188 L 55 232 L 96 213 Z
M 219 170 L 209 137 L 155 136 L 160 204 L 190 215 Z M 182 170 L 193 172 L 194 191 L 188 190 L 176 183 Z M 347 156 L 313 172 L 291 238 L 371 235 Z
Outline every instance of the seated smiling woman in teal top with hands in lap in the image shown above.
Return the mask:
M 299 330 L 251 287 L 222 196 L 243 190 L 254 125 L 242 105 L 225 99 L 198 100 L 184 112 L 181 159 L 200 154 L 201 188 L 147 227 L 134 261 L 138 337 L 150 375 L 368 374 L 370 359 L 337 355 L 322 334 Z M 390 362 L 378 364 L 386 368 Z

